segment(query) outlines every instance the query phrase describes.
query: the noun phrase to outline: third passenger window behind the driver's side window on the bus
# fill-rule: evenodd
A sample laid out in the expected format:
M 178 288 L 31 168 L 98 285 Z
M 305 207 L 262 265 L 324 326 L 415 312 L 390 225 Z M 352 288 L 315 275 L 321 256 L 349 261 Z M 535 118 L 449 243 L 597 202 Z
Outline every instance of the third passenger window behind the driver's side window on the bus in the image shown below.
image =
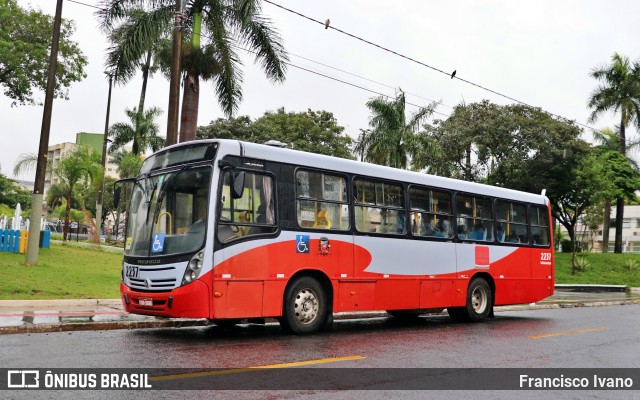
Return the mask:
M 411 187 L 411 232 L 414 236 L 453 237 L 451 194 L 431 189 Z

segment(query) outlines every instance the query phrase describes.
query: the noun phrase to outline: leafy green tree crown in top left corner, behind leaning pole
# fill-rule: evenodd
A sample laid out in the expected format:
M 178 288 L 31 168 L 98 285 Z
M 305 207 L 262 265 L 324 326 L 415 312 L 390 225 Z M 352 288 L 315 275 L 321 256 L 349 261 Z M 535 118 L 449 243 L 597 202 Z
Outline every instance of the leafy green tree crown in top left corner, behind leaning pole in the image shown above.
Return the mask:
M 71 40 L 74 26 L 62 22 L 56 69 L 57 98 L 68 99 L 68 88 L 86 77 L 87 59 Z M 53 17 L 24 9 L 16 0 L 0 0 L 0 86 L 12 106 L 36 104 L 34 90 L 45 90 Z

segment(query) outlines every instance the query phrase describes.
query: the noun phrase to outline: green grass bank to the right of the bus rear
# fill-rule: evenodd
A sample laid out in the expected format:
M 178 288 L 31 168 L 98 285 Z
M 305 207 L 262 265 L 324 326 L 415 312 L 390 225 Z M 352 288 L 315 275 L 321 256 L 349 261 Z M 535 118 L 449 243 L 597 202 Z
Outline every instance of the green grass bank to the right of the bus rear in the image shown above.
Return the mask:
M 582 255 L 578 254 L 577 257 Z M 584 253 L 584 257 L 590 264 L 587 270 L 571 275 L 571 253 L 556 253 L 556 283 L 640 287 L 640 255 Z M 629 271 L 625 267 L 627 260 L 635 260 L 638 265 Z

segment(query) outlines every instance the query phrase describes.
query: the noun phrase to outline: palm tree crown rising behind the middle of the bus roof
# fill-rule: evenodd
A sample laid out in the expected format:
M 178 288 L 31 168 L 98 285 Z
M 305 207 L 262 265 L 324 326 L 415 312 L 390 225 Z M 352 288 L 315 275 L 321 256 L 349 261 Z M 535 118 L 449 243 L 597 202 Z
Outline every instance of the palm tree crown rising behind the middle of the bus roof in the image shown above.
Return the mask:
M 406 101 L 402 90 L 394 100 L 377 97 L 367 102 L 373 115 L 369 121 L 371 130 L 362 131 L 354 151 L 364 154 L 364 159 L 375 164 L 407 169 L 411 157 L 418 150 L 416 132 L 420 123 L 429 117 L 436 103 L 421 107 L 407 120 Z

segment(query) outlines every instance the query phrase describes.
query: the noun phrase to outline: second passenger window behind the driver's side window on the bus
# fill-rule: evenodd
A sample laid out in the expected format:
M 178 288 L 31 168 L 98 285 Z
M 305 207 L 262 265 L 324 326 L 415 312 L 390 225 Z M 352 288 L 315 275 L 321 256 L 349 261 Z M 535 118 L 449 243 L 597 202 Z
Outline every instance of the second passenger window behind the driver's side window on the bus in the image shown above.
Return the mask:
M 356 179 L 353 190 L 359 232 L 393 235 L 407 232 L 401 185 Z

